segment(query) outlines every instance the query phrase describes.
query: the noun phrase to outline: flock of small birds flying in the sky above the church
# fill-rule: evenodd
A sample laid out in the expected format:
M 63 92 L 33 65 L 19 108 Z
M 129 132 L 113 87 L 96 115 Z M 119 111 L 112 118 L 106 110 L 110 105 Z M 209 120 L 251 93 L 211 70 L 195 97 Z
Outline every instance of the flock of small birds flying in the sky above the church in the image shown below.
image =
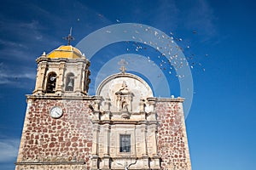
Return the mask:
M 120 23 L 120 20 L 116 20 L 117 23 Z M 143 25 L 137 25 L 143 28 Z M 142 29 L 140 29 L 141 31 Z M 155 31 L 151 27 L 144 27 L 143 32 L 135 30 L 131 36 L 131 39 L 134 41 L 128 41 L 127 43 L 132 43 L 132 46 L 126 48 L 127 52 L 143 53 L 143 51 L 148 50 L 149 48 L 154 48 L 158 53 L 157 57 L 149 56 L 150 53 L 146 56 L 148 62 L 154 66 L 159 66 L 160 69 L 168 74 L 175 74 L 178 78 L 183 78 L 185 75 L 177 75 L 177 69 L 182 68 L 183 66 L 189 66 L 190 69 L 195 69 L 196 67 L 200 68 L 201 71 L 206 71 L 201 62 L 196 61 L 195 54 L 189 54 L 190 45 L 183 42 L 183 38 L 175 37 L 173 32 L 170 32 L 170 36 L 167 36 L 159 31 Z M 106 31 L 107 33 L 112 33 L 112 31 Z M 124 31 L 126 33 L 127 31 Z M 151 34 L 157 41 L 144 41 L 140 34 Z M 193 31 L 193 34 L 196 34 L 197 31 Z M 157 43 L 160 42 L 160 43 Z M 176 43 L 175 43 L 176 42 Z M 179 45 L 177 45 L 179 44 Z M 149 47 L 151 46 L 151 47 Z M 183 48 L 182 48 L 183 47 Z M 181 50 L 184 57 L 178 56 L 177 51 Z M 205 57 L 208 57 L 208 54 L 205 54 Z M 161 77 L 159 75 L 158 77 Z

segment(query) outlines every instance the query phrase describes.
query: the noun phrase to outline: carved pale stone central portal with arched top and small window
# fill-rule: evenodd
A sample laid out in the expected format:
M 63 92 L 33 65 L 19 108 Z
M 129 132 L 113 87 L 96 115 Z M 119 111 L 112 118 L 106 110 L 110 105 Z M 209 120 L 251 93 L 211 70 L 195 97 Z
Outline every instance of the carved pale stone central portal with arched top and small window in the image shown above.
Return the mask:
M 93 139 L 99 141 L 94 143 L 99 167 L 93 169 L 160 169 L 155 99 L 148 83 L 122 72 L 106 78 L 96 95 L 102 100 L 93 121 L 99 128 Z

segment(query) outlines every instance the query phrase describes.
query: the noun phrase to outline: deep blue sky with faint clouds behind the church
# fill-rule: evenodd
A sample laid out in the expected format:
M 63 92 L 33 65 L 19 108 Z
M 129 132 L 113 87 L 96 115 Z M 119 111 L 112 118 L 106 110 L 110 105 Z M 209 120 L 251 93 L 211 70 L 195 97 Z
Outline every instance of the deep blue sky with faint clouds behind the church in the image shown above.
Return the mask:
M 0 169 L 15 168 L 26 111 L 25 94 L 31 94 L 35 84 L 35 59 L 44 51 L 49 53 L 67 44 L 62 37 L 67 36 L 70 27 L 73 27 L 75 46 L 98 29 L 122 23 L 152 26 L 174 37 L 177 45 L 184 49 L 189 66 L 193 66 L 190 70 L 194 98 L 186 118 L 192 168 L 253 169 L 256 160 L 255 7 L 256 4 L 248 0 L 2 3 Z M 129 53 L 146 56 L 145 59 L 149 56 L 163 71 L 156 57 L 160 53 L 143 44 L 140 45 L 147 50 L 137 51 L 137 45 L 134 42 L 109 44 L 90 59 L 93 80 L 90 94 L 94 93 L 93 77 L 97 71 L 113 57 L 125 54 L 127 48 Z M 86 51 L 82 52 L 86 56 Z M 130 65 L 137 59 L 131 58 Z M 151 69 L 148 67 L 145 66 L 145 70 Z M 143 76 L 145 71 L 137 74 Z M 163 71 L 163 75 L 153 76 L 159 78 L 155 80 L 166 77 L 171 94 L 180 95 L 175 73 L 168 75 Z

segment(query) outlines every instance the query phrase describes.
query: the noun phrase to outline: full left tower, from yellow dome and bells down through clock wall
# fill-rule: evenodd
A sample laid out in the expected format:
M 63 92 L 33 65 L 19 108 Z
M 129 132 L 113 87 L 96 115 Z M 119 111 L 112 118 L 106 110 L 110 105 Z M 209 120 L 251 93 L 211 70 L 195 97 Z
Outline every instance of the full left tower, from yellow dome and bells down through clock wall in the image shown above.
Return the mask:
M 90 61 L 70 44 L 43 53 L 26 116 L 16 170 L 89 169 L 92 145 Z

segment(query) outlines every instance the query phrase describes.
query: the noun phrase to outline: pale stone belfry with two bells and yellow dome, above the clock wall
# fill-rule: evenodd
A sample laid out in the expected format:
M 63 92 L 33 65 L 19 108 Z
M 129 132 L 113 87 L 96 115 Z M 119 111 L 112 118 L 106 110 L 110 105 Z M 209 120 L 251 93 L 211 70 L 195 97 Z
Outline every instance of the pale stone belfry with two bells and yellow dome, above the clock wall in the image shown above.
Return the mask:
M 90 61 L 71 45 L 56 48 L 38 59 L 38 74 L 33 94 L 87 95 Z

